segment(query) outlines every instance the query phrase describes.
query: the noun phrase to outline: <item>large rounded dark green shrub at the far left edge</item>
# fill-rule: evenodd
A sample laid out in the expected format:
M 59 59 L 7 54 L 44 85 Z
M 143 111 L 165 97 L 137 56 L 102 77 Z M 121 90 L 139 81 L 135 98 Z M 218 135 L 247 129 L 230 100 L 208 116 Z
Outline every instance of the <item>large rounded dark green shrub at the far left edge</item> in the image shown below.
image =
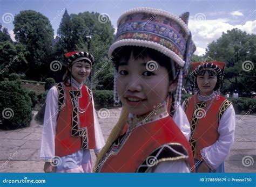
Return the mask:
M 14 130 L 30 125 L 32 103 L 21 81 L 0 82 L 0 100 L 1 129 Z

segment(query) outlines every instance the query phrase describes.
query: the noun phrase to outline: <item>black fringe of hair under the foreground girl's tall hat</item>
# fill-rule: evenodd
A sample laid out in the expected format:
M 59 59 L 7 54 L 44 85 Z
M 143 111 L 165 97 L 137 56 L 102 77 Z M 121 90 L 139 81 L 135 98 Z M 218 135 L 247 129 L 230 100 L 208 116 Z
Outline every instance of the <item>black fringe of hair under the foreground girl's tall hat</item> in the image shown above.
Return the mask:
M 172 67 L 172 64 L 175 66 L 176 63 L 174 63 L 170 57 L 164 55 L 163 53 L 147 47 L 122 46 L 116 48 L 112 53 L 114 68 L 118 70 L 121 61 L 127 63 L 131 54 L 133 55 L 134 60 L 150 57 L 152 60 L 158 62 L 160 66 L 167 69 L 170 81 L 173 80 L 173 77 L 176 77 L 175 75 L 173 76 L 173 74 L 176 74 L 175 69 L 173 70 L 175 67 Z

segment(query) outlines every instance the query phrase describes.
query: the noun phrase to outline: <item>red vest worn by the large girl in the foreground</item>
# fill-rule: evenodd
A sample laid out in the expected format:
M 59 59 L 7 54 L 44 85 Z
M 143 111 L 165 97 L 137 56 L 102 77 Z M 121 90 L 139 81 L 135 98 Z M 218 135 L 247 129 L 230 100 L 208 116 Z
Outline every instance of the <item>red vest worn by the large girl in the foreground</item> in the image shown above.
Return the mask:
M 183 147 L 185 154 L 188 155 L 188 158 L 169 157 L 170 160 L 185 159 L 190 167 L 193 166 L 190 144 L 172 118 L 168 116 L 138 126 L 119 145 L 113 143 L 109 152 L 99 162 L 97 172 L 136 172 L 154 150 L 166 143 Z M 113 147 L 117 148 L 117 151 Z

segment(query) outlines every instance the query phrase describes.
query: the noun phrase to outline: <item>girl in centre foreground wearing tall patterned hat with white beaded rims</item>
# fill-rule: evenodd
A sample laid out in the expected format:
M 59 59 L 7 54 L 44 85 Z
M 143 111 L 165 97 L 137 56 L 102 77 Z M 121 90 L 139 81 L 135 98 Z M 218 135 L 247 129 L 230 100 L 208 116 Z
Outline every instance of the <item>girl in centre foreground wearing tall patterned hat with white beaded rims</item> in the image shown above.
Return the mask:
M 118 19 L 109 57 L 116 69 L 114 100 L 124 106 L 96 172 L 193 171 L 190 145 L 169 115 L 170 97 L 177 88 L 178 106 L 196 49 L 187 19 L 188 13 L 178 17 L 151 8 L 131 9 Z

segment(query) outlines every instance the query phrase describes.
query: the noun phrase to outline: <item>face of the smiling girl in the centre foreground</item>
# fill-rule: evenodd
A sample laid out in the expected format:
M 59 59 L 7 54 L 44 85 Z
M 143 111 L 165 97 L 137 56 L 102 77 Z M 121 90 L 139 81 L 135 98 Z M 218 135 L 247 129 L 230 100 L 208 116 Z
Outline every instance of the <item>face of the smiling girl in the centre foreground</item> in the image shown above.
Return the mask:
M 164 102 L 170 87 L 173 89 L 165 67 L 158 64 L 153 71 L 146 68 L 150 60 L 150 57 L 134 60 L 131 54 L 127 63 L 120 62 L 118 67 L 117 92 L 130 113 L 142 115 L 152 111 Z

